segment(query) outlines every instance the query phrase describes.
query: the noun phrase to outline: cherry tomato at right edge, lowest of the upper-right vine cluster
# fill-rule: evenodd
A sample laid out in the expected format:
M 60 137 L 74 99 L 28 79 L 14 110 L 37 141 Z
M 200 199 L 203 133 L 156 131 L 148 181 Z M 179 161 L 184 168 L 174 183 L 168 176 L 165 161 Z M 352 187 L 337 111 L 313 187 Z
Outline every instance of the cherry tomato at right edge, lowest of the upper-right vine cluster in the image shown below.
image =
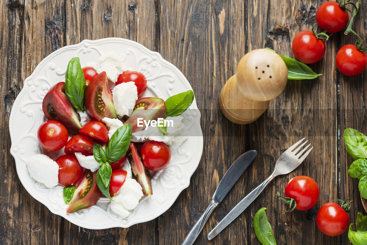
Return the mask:
M 336 61 L 341 73 L 347 76 L 355 76 L 366 68 L 367 55 L 359 51 L 355 45 L 346 44 L 339 49 Z

